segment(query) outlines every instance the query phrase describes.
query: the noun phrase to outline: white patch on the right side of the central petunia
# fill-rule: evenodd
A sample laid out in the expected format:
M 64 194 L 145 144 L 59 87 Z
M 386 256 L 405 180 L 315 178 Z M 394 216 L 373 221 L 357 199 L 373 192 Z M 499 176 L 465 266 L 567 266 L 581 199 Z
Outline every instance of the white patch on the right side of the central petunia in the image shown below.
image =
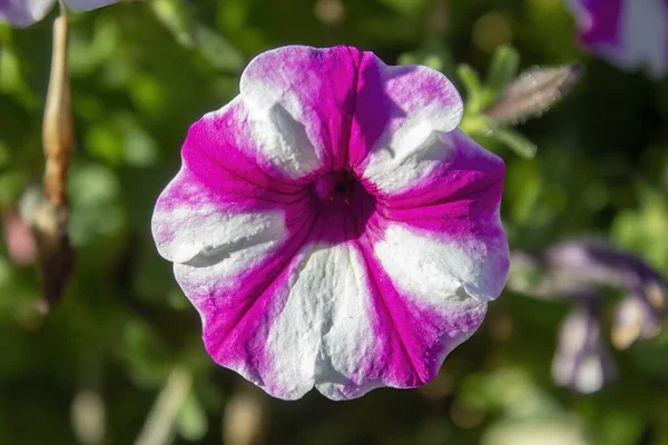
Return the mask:
M 374 253 L 395 286 L 405 295 L 443 308 L 489 301 L 505 285 L 508 244 L 504 237 L 438 238 L 401 224 L 390 224 Z

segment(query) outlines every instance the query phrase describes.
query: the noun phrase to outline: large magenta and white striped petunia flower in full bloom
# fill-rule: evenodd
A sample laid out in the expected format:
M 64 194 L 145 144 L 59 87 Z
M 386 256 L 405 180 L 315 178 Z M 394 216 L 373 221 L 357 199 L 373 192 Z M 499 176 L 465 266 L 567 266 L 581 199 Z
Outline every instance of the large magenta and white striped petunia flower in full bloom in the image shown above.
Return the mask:
M 440 72 L 355 48 L 250 61 L 153 218 L 214 360 L 284 399 L 432 380 L 509 266 L 504 166 L 461 117 Z

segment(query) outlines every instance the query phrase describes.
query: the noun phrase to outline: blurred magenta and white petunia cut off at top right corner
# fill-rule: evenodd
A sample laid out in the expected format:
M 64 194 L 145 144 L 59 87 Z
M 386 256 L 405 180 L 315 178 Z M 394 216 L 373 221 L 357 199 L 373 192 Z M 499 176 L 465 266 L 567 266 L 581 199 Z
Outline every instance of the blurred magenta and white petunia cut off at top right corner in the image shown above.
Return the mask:
M 625 69 L 668 72 L 667 0 L 567 0 L 580 40 L 593 53 Z

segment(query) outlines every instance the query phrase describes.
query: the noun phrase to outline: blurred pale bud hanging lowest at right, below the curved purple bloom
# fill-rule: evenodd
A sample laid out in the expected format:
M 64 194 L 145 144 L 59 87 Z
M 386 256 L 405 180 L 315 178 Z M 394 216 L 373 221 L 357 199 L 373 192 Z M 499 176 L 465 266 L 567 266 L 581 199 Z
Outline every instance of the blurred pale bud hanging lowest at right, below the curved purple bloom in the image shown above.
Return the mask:
M 562 322 L 552 378 L 579 393 L 595 393 L 617 376 L 617 367 L 600 335 L 598 306 L 588 300 Z

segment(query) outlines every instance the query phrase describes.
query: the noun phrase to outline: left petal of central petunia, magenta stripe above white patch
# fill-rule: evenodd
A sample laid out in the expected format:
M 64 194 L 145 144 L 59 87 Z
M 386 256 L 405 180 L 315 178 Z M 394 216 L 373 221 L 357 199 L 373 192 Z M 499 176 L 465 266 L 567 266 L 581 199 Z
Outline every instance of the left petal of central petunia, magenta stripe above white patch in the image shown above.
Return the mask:
M 238 101 L 190 128 L 184 167 L 154 212 L 154 237 L 165 258 L 203 266 L 230 261 L 234 251 L 261 255 L 306 217 L 299 206 L 304 194 L 248 154 L 247 130 Z

